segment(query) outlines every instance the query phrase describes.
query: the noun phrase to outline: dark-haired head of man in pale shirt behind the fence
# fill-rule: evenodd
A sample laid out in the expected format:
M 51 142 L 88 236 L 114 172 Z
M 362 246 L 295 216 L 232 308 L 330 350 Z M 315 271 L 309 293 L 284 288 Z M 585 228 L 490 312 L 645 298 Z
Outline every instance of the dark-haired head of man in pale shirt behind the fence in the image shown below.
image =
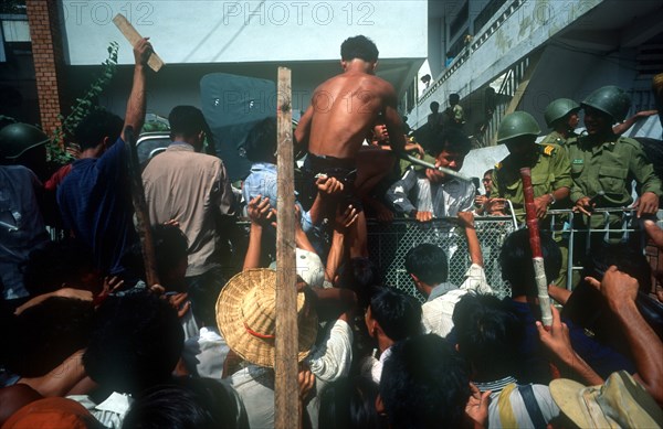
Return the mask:
M 470 149 L 472 149 L 472 142 L 467 136 L 457 128 L 450 128 L 431 141 L 430 152 L 435 157 L 435 167 L 459 171 L 463 168 Z M 432 183 L 448 179 L 446 174 L 439 170 L 428 169 L 425 175 Z

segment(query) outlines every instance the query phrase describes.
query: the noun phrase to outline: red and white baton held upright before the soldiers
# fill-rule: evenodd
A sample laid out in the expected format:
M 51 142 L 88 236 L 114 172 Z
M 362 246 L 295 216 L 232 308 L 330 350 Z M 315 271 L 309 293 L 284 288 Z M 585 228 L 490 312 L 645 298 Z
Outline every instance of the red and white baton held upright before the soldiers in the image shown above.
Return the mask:
M 541 322 L 544 326 L 552 324 L 550 312 L 550 296 L 548 296 L 548 282 L 546 281 L 546 269 L 544 267 L 544 254 L 541 251 L 541 238 L 539 236 L 536 207 L 534 206 L 534 187 L 532 186 L 532 170 L 520 169 L 523 179 L 523 194 L 525 195 L 525 215 L 527 230 L 529 232 L 529 246 L 532 247 L 532 264 L 534 265 L 534 277 L 538 291 L 539 308 L 541 309 Z

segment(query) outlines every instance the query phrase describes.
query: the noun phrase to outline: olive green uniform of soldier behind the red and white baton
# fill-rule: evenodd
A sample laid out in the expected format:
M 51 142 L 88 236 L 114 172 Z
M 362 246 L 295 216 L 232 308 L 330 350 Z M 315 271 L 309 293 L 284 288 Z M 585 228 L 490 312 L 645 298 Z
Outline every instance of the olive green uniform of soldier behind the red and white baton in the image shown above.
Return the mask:
M 555 192 L 560 187 L 571 187 L 571 167 L 566 150 L 557 144 L 536 144 L 537 160 L 532 168 L 534 197 Z M 491 197 L 509 200 L 518 222 L 525 221 L 525 195 L 520 179 L 520 165 L 516 165 L 509 154 L 495 165 L 493 171 L 493 193 Z

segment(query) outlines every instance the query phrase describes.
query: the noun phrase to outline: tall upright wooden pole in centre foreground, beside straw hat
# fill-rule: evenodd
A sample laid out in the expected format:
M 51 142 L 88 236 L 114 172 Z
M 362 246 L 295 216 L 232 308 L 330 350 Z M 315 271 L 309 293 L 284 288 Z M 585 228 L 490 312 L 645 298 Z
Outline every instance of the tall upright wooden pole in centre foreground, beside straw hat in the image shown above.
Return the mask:
M 274 423 L 277 429 L 299 426 L 297 384 L 297 290 L 295 270 L 295 189 L 291 71 L 278 67 L 277 84 L 277 228 L 276 228 L 276 353 L 274 357 Z

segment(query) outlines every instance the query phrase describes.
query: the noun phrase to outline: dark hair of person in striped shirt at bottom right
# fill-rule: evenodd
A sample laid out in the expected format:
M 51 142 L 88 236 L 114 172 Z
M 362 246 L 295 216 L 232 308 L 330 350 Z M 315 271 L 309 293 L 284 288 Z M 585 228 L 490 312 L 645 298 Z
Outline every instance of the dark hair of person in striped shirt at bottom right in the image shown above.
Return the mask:
M 477 382 L 514 375 L 524 326 L 505 301 L 469 293 L 453 310 L 459 352 L 476 371 Z

